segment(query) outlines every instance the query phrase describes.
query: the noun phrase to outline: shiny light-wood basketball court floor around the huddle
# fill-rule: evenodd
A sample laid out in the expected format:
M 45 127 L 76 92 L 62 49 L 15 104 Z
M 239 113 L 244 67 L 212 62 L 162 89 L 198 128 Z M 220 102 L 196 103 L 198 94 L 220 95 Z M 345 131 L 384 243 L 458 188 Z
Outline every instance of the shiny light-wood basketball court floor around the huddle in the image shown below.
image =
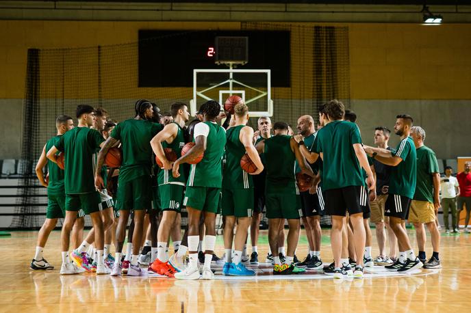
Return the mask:
M 413 232 L 413 231 L 412 231 Z M 409 231 L 409 234 L 412 234 Z M 374 232 L 373 232 L 374 233 Z M 160 277 L 127 278 L 95 274 L 59 275 L 60 232 L 53 232 L 44 256 L 53 271 L 32 271 L 37 232 L 0 237 L 1 312 L 467 312 L 471 294 L 471 235 L 442 236 L 441 270 L 400 277 L 370 275 L 363 280 L 333 280 L 318 273 L 290 280 L 181 281 Z M 329 230 L 322 230 L 323 236 Z M 266 232 L 264 232 L 266 235 Z M 303 238 L 304 235 L 302 235 Z M 412 235 L 416 249 L 415 235 Z M 376 239 L 373 239 L 375 242 Z M 427 257 L 431 253 L 430 239 Z M 323 240 L 324 242 L 324 240 Z M 218 236 L 217 253 L 222 256 Z M 264 262 L 266 245 L 259 247 Z M 298 247 L 304 257 L 305 243 Z M 373 256 L 377 249 L 373 248 Z M 323 244 L 324 263 L 331 248 Z M 267 267 L 265 267 L 267 268 Z M 261 270 L 257 272 L 263 272 Z M 268 272 L 268 271 L 267 271 Z M 220 271 L 216 277 L 221 278 Z M 263 277 L 263 278 L 262 278 Z M 313 278 L 314 277 L 314 278 Z M 318 279 L 322 278 L 322 279 Z M 182 311 L 183 308 L 183 311 Z

